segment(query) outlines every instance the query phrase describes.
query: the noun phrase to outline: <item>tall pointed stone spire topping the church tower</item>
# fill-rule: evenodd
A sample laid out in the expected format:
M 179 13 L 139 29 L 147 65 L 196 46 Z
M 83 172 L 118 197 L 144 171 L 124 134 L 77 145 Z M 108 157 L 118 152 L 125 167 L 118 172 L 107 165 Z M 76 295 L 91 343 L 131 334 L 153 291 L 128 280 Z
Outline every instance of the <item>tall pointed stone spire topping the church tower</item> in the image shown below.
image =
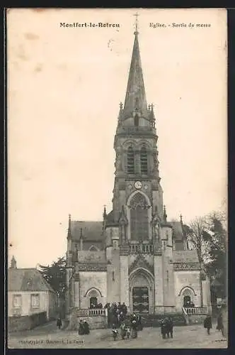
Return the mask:
M 138 15 L 135 15 L 138 16 Z M 133 111 L 141 111 L 142 116 L 147 116 L 147 99 L 144 89 L 144 78 L 142 64 L 139 54 L 138 22 L 135 23 L 134 45 L 132 50 L 132 61 L 130 64 L 127 92 L 125 97 L 124 115 L 132 116 Z

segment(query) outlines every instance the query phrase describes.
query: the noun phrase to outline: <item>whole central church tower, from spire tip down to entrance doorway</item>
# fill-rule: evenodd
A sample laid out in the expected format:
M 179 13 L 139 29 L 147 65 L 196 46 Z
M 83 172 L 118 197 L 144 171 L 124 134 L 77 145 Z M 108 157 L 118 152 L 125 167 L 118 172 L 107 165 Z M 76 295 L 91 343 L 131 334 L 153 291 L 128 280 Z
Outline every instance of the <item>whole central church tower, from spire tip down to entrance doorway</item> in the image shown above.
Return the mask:
M 147 104 L 145 93 L 136 23 L 125 103 L 120 103 L 114 139 L 113 210 L 105 214 L 103 226 L 108 300 L 125 302 L 134 310 L 135 293 L 147 292 L 143 297 L 148 301 L 142 305 L 151 313 L 156 304 L 162 307 L 164 302 L 162 254 L 163 248 L 168 248 L 163 233 L 166 212 L 157 141 L 154 105 Z

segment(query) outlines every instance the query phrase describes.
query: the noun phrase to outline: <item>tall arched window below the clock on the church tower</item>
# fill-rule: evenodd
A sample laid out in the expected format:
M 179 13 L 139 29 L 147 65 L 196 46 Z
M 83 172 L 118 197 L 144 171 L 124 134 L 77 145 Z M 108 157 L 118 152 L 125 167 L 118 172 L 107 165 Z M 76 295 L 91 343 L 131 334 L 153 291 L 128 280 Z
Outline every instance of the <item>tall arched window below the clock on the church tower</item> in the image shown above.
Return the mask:
M 148 206 L 144 195 L 137 193 L 130 201 L 131 239 L 147 240 L 149 238 Z

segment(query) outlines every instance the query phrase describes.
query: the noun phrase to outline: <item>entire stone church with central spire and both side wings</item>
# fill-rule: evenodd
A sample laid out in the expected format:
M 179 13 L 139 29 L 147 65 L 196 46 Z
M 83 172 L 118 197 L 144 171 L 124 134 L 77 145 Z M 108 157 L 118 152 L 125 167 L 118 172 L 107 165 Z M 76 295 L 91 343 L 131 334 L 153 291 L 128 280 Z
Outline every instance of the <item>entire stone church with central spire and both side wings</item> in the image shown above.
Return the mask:
M 113 209 L 104 209 L 101 222 L 69 216 L 67 315 L 106 302 L 147 314 L 182 312 L 186 302 L 210 308 L 210 283 L 188 249 L 182 217 L 167 219 L 155 121 L 136 31 L 114 139 Z

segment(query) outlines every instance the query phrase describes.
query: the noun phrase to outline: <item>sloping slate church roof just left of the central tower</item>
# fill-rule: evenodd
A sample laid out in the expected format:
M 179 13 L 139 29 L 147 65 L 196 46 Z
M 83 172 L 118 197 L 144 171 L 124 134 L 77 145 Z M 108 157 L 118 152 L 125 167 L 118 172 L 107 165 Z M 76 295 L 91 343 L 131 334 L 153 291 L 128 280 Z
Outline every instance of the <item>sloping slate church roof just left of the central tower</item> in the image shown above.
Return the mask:
M 84 241 L 102 241 L 103 240 L 103 222 L 102 221 L 71 221 L 72 239 Z

